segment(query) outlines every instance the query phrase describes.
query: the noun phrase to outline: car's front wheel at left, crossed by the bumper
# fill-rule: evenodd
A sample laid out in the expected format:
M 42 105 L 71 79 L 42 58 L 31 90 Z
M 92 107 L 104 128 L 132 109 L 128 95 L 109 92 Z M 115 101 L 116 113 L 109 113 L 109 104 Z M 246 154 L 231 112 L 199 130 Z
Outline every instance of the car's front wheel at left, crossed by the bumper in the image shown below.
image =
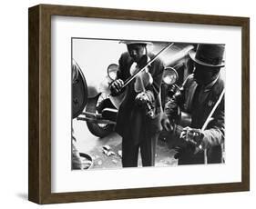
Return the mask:
M 113 106 L 114 105 L 110 102 L 109 98 L 102 93 L 94 98 L 90 98 L 87 100 L 86 111 L 88 113 L 101 114 L 104 108 L 111 108 Z M 107 136 L 114 130 L 114 124 L 97 124 L 87 122 L 87 127 L 92 134 L 100 138 Z

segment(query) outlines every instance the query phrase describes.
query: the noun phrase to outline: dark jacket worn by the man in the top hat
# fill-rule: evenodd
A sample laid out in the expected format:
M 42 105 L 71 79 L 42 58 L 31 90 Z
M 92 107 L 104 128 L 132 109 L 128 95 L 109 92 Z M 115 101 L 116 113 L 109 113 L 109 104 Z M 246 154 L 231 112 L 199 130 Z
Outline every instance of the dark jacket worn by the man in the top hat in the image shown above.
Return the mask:
M 169 107 L 177 104 L 185 112 L 191 114 L 192 128 L 201 129 L 205 123 L 210 111 L 213 106 L 218 101 L 222 90 L 224 89 L 224 82 L 220 78 L 212 85 L 209 89 L 205 90 L 201 94 L 200 99 L 197 103 L 194 103 L 195 91 L 197 88 L 197 83 L 193 78 L 193 75 L 189 75 L 184 85 L 181 88 L 180 95 L 168 104 L 166 104 L 166 112 L 169 114 Z M 224 142 L 224 97 L 222 98 L 219 106 L 212 115 L 212 120 L 210 124 L 204 131 L 204 140 L 206 142 L 208 163 L 221 163 L 222 161 L 222 148 Z M 179 164 L 203 164 L 204 154 L 193 154 L 193 151 L 188 147 L 184 147 L 179 154 Z

